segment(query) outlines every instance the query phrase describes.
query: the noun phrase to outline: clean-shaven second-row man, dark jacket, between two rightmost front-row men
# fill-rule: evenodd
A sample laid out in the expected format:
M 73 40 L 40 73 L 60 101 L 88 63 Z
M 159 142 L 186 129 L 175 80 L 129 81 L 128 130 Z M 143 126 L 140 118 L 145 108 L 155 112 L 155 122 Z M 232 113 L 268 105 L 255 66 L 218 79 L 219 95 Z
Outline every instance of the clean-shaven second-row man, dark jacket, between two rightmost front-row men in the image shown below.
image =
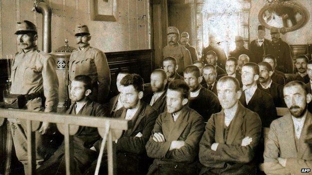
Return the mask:
M 246 63 L 241 69 L 242 94 L 240 103 L 256 112 L 262 122 L 262 127 L 268 128 L 277 117 L 273 98 L 266 92 L 257 88 L 259 78 L 259 67 L 255 63 Z

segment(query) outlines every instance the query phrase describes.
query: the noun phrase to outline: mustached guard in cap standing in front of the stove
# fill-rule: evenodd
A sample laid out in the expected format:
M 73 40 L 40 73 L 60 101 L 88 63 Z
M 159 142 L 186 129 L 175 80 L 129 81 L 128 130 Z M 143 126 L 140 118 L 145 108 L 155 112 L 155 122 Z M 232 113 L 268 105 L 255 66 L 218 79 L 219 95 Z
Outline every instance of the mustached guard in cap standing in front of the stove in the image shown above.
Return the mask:
M 75 38 L 79 48 L 69 58 L 69 80 L 77 75 L 87 75 L 92 79 L 91 100 L 103 104 L 109 92 L 110 71 L 105 54 L 89 45 L 91 39 L 86 25 L 78 24 Z

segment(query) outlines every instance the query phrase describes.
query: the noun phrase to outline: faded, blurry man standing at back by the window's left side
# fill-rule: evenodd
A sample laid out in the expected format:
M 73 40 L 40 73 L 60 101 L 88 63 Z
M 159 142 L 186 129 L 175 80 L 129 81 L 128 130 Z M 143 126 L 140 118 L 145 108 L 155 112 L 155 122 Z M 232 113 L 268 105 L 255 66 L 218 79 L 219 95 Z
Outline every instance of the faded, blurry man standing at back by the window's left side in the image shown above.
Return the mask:
M 209 39 L 209 45 L 208 47 L 205 47 L 202 49 L 202 53 L 201 53 L 201 61 L 203 61 L 205 64 L 206 63 L 206 54 L 209 51 L 214 51 L 216 53 L 216 56 L 218 57 L 217 60 L 217 64 L 218 66 L 220 66 L 222 69 L 225 68 L 225 61 L 226 61 L 226 55 L 224 50 L 218 46 L 219 42 L 216 41 L 215 37 L 213 35 L 209 35 L 208 37 Z

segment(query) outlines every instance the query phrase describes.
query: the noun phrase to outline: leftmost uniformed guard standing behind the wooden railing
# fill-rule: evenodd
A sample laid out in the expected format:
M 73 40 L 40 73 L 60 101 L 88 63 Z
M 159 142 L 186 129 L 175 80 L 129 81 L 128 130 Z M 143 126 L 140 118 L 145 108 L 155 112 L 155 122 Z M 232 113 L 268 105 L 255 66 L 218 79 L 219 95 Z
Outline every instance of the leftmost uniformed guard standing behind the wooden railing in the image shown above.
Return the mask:
M 23 109 L 28 111 L 56 112 L 58 103 L 58 79 L 55 72 L 54 58 L 38 50 L 36 26 L 27 20 L 17 22 L 17 43 L 20 51 L 12 61 L 11 94 L 34 94 L 43 91 L 45 102 L 39 96 L 28 100 Z M 23 121 L 10 119 L 13 144 L 18 160 L 27 170 L 27 138 Z M 42 161 L 48 154 L 49 146 L 44 145 L 48 139 L 46 133 L 49 123 L 43 122 L 35 132 L 36 163 Z M 38 164 L 37 164 L 38 165 Z M 26 173 L 27 174 L 27 173 Z

